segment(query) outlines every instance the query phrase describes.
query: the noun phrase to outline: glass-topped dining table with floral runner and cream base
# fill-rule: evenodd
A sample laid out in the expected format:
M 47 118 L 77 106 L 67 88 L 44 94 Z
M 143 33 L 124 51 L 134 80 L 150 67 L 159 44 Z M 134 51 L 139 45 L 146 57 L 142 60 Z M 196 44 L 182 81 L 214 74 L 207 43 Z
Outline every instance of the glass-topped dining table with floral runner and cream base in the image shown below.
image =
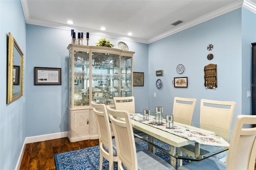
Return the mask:
M 130 118 L 132 127 L 138 130 L 134 136 L 147 142 L 151 152 L 157 148 L 170 154 L 170 164 L 174 167 L 182 166 L 182 160 L 200 161 L 229 148 L 230 130 L 175 117 L 172 128 L 166 128 L 165 119 L 162 119 L 162 124 L 156 124 L 154 113 L 151 113 L 149 120 L 140 112 L 130 113 Z M 163 144 L 170 146 L 170 149 L 163 147 Z

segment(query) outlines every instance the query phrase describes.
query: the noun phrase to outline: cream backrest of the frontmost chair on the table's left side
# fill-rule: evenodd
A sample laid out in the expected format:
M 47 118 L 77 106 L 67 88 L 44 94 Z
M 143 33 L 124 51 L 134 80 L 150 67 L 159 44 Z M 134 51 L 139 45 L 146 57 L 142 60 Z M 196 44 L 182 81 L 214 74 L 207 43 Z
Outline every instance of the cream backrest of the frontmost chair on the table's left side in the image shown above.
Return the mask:
M 122 162 L 128 169 L 137 170 L 138 162 L 136 146 L 132 131 L 132 123 L 128 111 L 118 111 L 107 106 L 116 139 L 118 162 Z M 122 120 L 118 120 L 122 119 Z M 118 163 L 118 169 L 123 169 Z

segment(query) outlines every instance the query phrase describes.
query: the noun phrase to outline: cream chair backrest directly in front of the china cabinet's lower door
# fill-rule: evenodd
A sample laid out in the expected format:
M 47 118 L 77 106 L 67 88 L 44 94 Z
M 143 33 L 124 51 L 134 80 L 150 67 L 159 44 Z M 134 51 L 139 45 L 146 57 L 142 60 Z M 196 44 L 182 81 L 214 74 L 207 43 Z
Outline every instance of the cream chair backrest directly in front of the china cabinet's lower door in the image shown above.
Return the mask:
M 108 154 L 113 156 L 112 134 L 106 105 L 93 102 L 91 104 L 98 126 L 100 149 L 104 150 L 102 145 L 104 144 L 109 150 Z

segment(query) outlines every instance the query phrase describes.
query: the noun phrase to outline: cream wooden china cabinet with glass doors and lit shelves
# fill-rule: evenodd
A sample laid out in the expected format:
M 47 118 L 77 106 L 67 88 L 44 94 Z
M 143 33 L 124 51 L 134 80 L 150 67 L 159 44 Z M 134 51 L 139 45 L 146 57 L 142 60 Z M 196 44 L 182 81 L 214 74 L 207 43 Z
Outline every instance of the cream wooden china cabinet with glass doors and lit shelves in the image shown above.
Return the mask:
M 90 102 L 114 107 L 113 97 L 132 96 L 134 52 L 69 44 L 68 139 L 98 139 Z

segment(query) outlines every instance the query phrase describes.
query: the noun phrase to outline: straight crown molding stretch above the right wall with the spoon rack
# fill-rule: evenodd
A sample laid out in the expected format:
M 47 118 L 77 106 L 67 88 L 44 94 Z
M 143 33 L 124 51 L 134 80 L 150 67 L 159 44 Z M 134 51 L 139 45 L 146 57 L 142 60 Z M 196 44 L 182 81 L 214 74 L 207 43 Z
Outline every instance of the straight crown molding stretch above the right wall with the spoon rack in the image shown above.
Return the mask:
M 218 10 L 215 10 L 214 12 L 211 12 L 209 14 L 201 16 L 201 17 L 199 17 L 199 18 L 197 18 L 195 20 L 192 20 L 190 22 L 184 23 L 184 24 L 182 24 L 181 26 L 178 26 L 175 29 L 172 29 L 172 30 L 170 30 L 168 32 L 160 34 L 159 36 L 151 38 L 151 39 L 148 40 L 148 43 L 155 42 L 157 40 L 160 40 L 162 38 L 165 38 L 167 36 L 170 36 L 172 34 L 175 34 L 177 32 L 180 32 L 180 31 L 185 30 L 187 28 L 190 28 L 192 26 L 195 26 L 197 24 L 200 24 L 202 22 L 208 21 L 208 20 L 210 20 L 212 18 L 215 18 L 217 16 L 220 16 L 220 15 L 226 14 L 226 13 L 228 13 L 230 11 L 236 10 L 236 9 L 242 7 L 242 4 L 243 4 L 243 1 L 241 0 L 241 1 L 238 1 L 238 2 L 234 2 L 233 4 L 230 4 L 228 6 L 224 6 L 224 7 L 220 8 L 220 9 L 218 9 Z

